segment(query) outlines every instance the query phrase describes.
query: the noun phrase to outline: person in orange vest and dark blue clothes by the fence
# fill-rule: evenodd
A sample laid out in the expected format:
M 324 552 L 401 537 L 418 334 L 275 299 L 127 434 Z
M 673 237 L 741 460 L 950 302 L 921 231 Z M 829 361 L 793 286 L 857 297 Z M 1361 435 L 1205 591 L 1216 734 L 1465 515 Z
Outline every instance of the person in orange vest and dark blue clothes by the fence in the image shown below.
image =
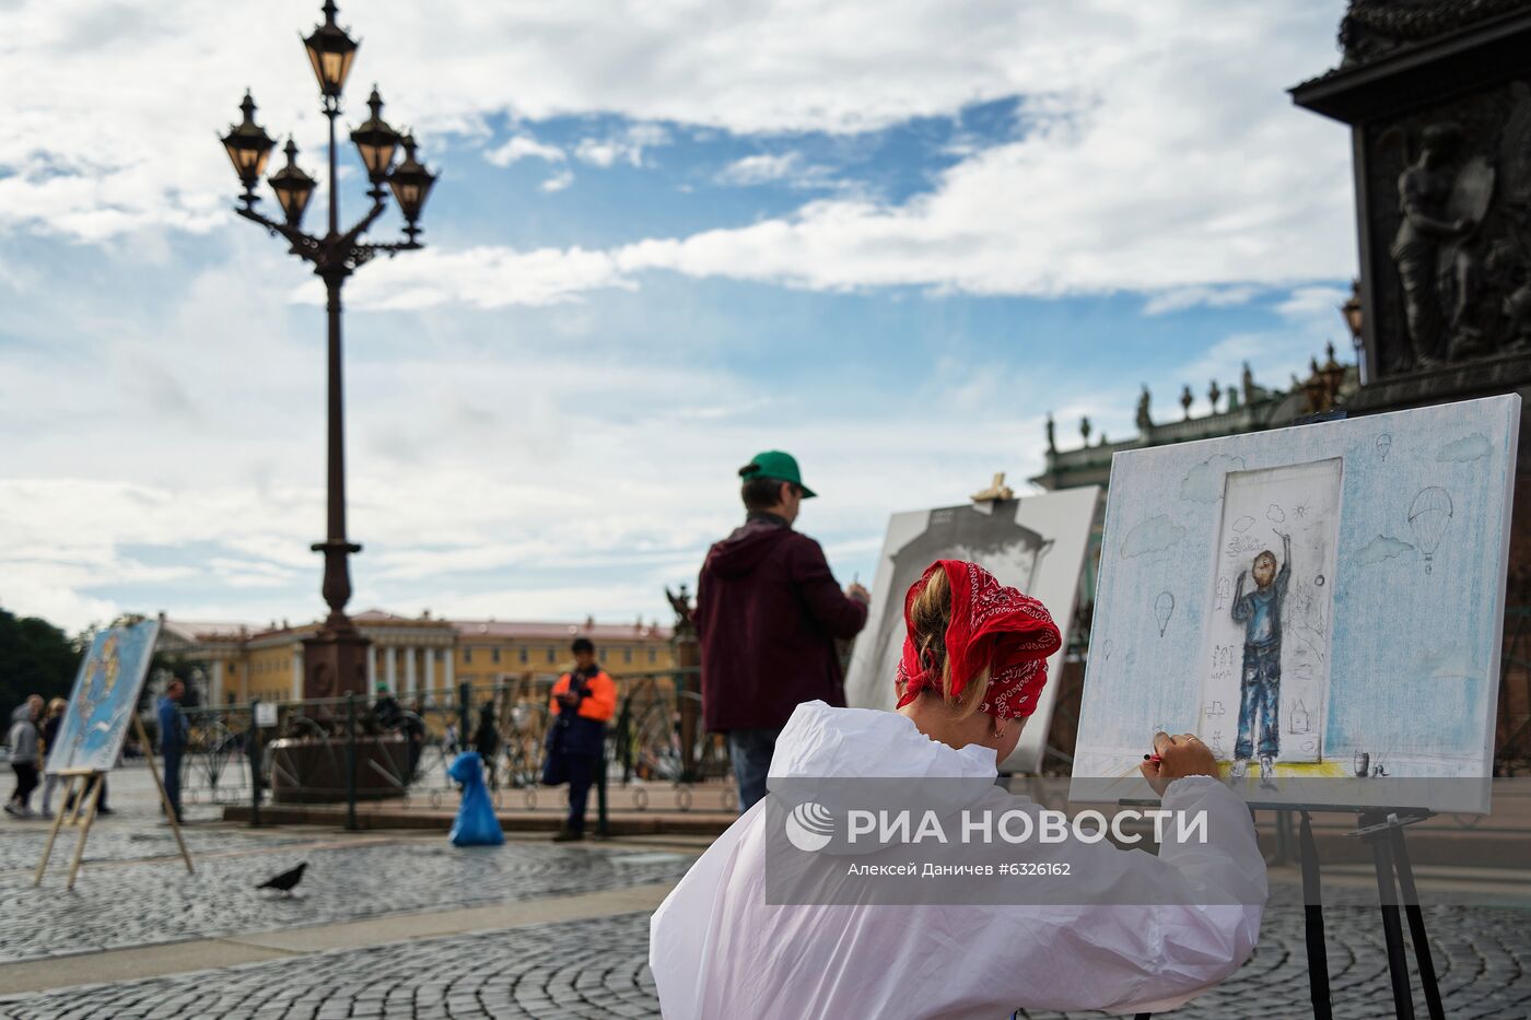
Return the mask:
M 553 685 L 548 760 L 542 766 L 547 786 L 570 784 L 570 816 L 554 842 L 585 838 L 585 799 L 602 767 L 606 720 L 617 711 L 617 682 L 596 663 L 596 645 L 576 637 L 570 651 L 574 669 Z

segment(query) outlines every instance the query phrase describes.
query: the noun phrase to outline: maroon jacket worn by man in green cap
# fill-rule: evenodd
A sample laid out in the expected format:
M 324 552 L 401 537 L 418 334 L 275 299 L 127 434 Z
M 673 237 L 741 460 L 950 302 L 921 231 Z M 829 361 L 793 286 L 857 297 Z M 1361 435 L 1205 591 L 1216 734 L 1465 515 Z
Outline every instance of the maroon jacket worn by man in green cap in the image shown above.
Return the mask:
M 781 518 L 752 513 L 707 550 L 695 620 L 707 729 L 781 729 L 802 701 L 845 705 L 834 639 L 854 637 L 867 606 Z

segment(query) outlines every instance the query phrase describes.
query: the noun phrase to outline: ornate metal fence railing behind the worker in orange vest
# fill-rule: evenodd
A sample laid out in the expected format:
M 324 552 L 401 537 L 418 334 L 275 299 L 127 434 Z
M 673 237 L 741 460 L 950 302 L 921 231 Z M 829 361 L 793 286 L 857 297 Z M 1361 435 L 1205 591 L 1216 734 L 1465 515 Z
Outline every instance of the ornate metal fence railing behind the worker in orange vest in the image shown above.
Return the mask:
M 727 747 L 701 726 L 697 678 L 695 668 L 617 677 L 597 775 L 602 818 L 608 809 L 736 809 Z M 344 804 L 355 824 L 358 803 L 456 804 L 447 767 L 478 750 L 496 807 L 562 810 L 562 796 L 539 789 L 556 680 L 462 683 L 413 701 L 349 695 L 185 709 L 182 801 L 251 804 L 257 822 L 273 801 Z

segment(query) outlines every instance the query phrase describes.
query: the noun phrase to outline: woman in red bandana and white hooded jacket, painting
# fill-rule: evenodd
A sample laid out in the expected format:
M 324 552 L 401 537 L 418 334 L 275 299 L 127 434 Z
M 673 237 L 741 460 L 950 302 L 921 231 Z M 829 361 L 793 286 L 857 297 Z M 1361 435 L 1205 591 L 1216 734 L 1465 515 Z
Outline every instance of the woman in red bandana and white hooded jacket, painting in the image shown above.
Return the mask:
M 899 711 L 798 706 L 776 741 L 773 790 L 798 776 L 951 776 L 1000 796 L 997 763 L 1036 705 L 1058 628 L 1040 602 L 960 561 L 934 564 L 909 590 L 905 623 Z M 770 905 L 767 839 L 779 842 L 781 818 L 767 824 L 767 796 L 654 914 L 649 966 L 664 1017 L 1003 1020 L 1018 1008 L 1130 1014 L 1187 1002 L 1254 950 L 1265 861 L 1243 803 L 1213 778 L 1211 752 L 1190 735 L 1157 734 L 1153 746 L 1144 776 L 1164 809 L 1205 812 L 1208 841 L 1167 825 L 1159 856 L 1026 844 L 1027 861 L 1087 876 L 1098 899 L 1067 904 L 987 902 L 987 890 L 1003 897 L 998 887 L 978 885 L 978 902 L 961 905 Z

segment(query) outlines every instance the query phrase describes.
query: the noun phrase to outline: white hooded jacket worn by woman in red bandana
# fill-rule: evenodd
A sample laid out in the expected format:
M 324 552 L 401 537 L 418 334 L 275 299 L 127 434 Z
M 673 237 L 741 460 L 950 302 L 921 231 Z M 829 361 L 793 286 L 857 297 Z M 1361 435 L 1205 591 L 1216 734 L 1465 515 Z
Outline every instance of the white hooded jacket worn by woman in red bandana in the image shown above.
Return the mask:
M 896 712 L 810 701 L 781 732 L 770 775 L 997 772 L 992 750 L 955 750 Z M 1236 971 L 1258 939 L 1262 907 L 1240 904 L 1265 902 L 1265 861 L 1248 809 L 1209 776 L 1171 783 L 1164 807 L 1208 812 L 1222 842 L 1176 842 L 1170 825 L 1159 856 L 1030 845 L 1029 859 L 1089 873 L 1099 905 L 767 905 L 766 807 L 733 822 L 654 913 L 649 966 L 666 1020 L 1162 1012 Z M 1165 887 L 1187 905 L 1121 905 L 1133 888 Z

